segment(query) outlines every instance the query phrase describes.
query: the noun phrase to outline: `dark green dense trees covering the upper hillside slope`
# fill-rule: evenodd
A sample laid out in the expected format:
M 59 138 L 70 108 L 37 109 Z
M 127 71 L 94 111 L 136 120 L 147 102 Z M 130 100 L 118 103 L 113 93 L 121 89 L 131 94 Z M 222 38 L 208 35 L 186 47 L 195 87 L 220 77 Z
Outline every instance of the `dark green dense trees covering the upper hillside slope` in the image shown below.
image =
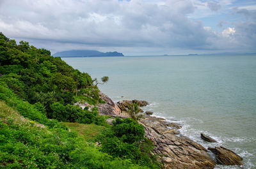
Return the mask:
M 104 121 L 96 109 L 74 106 L 75 101 L 90 105 L 103 102 L 90 75 L 74 70 L 60 57 L 52 57 L 49 50 L 24 41 L 17 45 L 0 33 L 0 76 L 2 85 L 40 107 L 50 119 L 97 124 Z

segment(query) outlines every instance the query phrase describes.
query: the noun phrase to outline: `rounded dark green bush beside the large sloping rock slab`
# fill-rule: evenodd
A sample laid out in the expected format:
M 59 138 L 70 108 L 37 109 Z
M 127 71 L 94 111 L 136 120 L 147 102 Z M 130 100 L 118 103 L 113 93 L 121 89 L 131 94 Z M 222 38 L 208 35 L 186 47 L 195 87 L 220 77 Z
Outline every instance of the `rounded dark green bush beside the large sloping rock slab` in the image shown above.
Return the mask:
M 106 129 L 98 140 L 101 151 L 107 152 L 116 158 L 131 159 L 132 163 L 160 168 L 156 156 L 151 154 L 153 143 L 144 138 L 144 128 L 132 119 L 113 121 L 113 126 Z

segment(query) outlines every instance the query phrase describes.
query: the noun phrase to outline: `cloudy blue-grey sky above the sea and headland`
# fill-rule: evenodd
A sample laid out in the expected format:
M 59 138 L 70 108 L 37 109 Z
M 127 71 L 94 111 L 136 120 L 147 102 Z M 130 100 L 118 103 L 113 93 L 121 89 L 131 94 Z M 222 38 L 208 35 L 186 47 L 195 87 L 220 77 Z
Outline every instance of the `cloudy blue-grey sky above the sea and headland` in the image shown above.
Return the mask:
M 0 32 L 52 54 L 256 52 L 255 0 L 0 0 Z

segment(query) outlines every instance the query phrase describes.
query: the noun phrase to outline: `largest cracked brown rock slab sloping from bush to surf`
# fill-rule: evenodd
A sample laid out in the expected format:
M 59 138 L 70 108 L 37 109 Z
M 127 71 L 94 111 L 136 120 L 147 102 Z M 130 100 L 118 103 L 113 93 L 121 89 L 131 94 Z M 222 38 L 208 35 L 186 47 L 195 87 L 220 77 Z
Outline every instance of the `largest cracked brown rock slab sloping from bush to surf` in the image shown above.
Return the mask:
M 180 124 L 162 118 L 145 117 L 141 120 L 145 137 L 152 140 L 154 154 L 160 155 L 164 168 L 214 168 L 216 163 L 202 145 L 185 136 L 174 135 Z

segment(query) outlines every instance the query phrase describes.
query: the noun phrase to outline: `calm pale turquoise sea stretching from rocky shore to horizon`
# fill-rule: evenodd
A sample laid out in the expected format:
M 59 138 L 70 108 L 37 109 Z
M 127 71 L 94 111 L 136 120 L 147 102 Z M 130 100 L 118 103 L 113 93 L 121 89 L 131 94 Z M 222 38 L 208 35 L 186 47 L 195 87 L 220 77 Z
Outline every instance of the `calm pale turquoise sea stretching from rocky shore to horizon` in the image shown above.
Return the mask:
M 144 110 L 182 123 L 183 135 L 206 148 L 227 147 L 244 158 L 244 168 L 256 168 L 256 55 L 62 59 L 93 78 L 108 76 L 99 88 L 113 101 L 147 100 Z

